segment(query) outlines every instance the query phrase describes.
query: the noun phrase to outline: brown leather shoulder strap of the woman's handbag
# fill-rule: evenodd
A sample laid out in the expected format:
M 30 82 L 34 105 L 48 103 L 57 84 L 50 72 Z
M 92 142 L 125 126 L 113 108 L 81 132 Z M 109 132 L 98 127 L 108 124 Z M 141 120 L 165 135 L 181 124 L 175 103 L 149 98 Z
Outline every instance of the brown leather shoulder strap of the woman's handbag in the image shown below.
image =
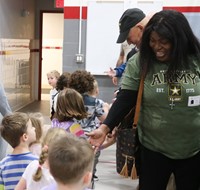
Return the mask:
M 137 102 L 135 106 L 135 114 L 134 114 L 134 120 L 133 120 L 133 128 L 137 127 L 137 123 L 139 119 L 139 113 L 140 113 L 141 102 L 142 102 L 142 93 L 144 89 L 144 78 L 145 78 L 145 75 L 143 74 L 140 80 L 140 86 L 139 86 L 139 91 L 137 95 Z

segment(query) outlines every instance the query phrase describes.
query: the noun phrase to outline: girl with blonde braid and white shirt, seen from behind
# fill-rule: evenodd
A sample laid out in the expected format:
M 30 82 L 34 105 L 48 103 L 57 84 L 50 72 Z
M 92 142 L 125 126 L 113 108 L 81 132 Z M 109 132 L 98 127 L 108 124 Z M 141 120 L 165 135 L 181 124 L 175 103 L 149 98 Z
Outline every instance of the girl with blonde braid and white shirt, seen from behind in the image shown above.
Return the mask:
M 50 128 L 42 142 L 42 151 L 39 160 L 32 161 L 24 171 L 22 178 L 15 187 L 15 190 L 36 190 L 42 189 L 55 183 L 54 178 L 49 172 L 47 162 L 48 148 L 52 141 L 66 136 L 66 131 L 62 128 Z

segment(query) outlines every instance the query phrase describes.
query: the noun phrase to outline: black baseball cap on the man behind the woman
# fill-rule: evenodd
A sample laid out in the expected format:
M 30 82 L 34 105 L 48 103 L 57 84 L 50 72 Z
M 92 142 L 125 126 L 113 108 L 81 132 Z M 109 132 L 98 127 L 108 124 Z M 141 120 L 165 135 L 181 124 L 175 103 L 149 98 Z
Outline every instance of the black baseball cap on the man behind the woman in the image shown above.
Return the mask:
M 123 43 L 130 29 L 139 23 L 146 15 L 138 8 L 127 9 L 119 20 L 119 37 L 117 43 Z

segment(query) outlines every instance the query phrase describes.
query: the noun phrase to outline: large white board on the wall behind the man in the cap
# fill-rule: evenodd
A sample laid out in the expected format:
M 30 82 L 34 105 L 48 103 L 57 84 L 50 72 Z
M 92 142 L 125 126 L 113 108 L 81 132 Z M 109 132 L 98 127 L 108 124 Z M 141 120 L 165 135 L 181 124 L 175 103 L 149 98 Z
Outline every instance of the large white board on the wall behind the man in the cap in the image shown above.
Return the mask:
M 162 10 L 162 1 L 88 1 L 86 34 L 86 70 L 105 75 L 114 68 L 120 53 L 117 44 L 119 19 L 128 8 L 140 8 L 144 13 Z

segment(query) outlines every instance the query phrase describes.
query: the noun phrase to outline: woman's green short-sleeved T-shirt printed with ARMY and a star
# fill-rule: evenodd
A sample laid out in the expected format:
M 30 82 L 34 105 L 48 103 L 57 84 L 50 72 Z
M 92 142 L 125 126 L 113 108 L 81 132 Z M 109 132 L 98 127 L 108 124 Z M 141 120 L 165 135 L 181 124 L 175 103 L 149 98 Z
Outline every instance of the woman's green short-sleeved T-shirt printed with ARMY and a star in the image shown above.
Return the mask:
M 126 66 L 122 89 L 139 88 L 138 55 Z M 191 61 L 190 65 L 192 70 L 178 71 L 174 81 L 168 83 L 167 64 L 155 62 L 144 82 L 140 141 L 173 159 L 189 158 L 200 150 L 200 63 Z

